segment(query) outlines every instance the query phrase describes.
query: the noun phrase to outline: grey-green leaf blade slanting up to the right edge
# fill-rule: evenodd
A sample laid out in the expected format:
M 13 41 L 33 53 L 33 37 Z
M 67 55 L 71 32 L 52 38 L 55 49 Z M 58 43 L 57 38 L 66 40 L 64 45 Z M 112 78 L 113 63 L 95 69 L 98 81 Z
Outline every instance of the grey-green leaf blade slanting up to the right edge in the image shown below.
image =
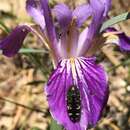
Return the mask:
M 103 23 L 103 25 L 100 29 L 100 32 L 103 32 L 105 29 L 107 29 L 108 27 L 110 27 L 114 24 L 117 24 L 119 22 L 122 22 L 122 21 L 125 21 L 128 19 L 130 19 L 130 12 L 126 12 L 126 13 L 120 14 L 116 17 L 113 17 L 113 18 L 111 18 L 108 21 Z

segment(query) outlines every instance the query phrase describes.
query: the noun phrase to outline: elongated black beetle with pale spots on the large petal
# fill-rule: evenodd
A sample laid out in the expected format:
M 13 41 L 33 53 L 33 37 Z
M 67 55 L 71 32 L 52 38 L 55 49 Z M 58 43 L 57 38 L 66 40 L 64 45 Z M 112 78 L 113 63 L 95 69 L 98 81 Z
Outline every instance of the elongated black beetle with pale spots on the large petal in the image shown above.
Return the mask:
M 67 112 L 72 122 L 80 121 L 81 99 L 79 89 L 75 85 L 72 85 L 67 93 Z

